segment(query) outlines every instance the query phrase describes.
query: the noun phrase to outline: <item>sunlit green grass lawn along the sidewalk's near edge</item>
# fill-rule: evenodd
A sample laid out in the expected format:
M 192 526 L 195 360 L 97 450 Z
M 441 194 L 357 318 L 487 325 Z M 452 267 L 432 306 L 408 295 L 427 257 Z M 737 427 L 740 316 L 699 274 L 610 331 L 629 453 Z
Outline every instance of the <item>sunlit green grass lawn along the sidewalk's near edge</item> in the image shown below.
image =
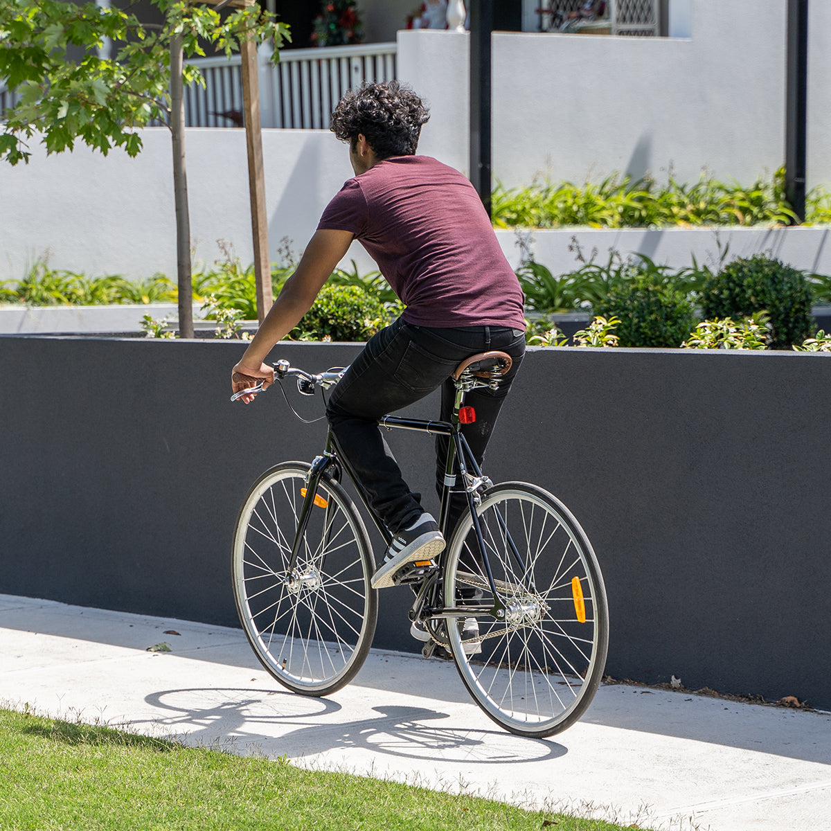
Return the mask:
M 0 709 L 0 829 L 621 826 Z

